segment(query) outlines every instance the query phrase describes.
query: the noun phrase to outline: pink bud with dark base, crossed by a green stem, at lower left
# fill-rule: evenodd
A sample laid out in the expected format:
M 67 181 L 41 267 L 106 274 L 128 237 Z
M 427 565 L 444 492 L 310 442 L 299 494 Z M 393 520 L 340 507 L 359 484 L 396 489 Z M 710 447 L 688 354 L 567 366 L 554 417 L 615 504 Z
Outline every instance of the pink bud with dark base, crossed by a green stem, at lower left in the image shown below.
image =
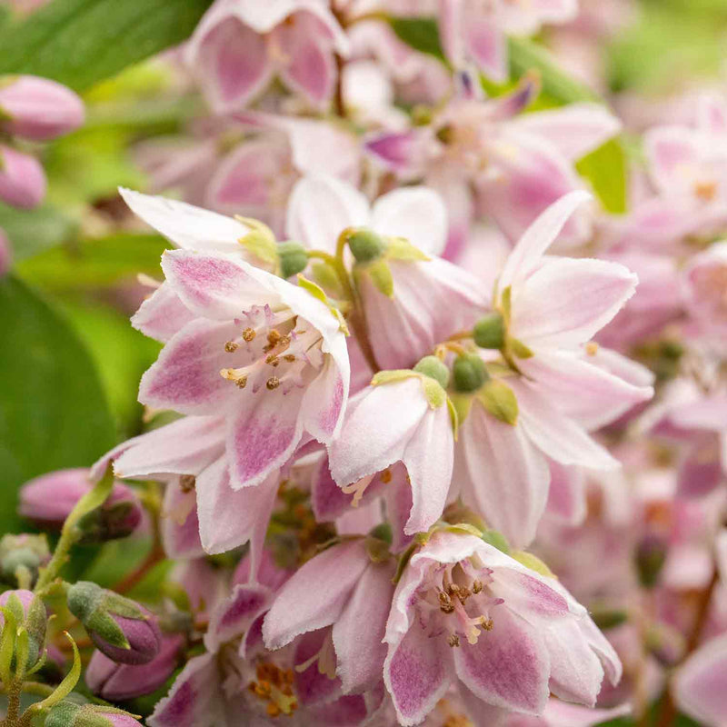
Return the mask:
M 84 468 L 58 470 L 25 483 L 20 488 L 19 513 L 40 527 L 60 530 L 75 504 L 92 483 Z M 102 543 L 134 532 L 142 519 L 142 506 L 131 488 L 114 483 L 106 502 L 79 523 L 82 542 Z

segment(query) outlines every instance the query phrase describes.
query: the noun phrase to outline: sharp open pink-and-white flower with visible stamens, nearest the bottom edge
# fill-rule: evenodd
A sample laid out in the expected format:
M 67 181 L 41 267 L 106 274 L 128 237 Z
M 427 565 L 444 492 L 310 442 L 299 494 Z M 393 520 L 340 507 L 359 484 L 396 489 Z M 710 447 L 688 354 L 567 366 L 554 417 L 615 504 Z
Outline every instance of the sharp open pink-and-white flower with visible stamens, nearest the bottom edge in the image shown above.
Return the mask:
M 542 714 L 552 692 L 593 706 L 621 663 L 587 612 L 473 534 L 437 532 L 393 595 L 383 675 L 403 725 L 421 722 L 452 683 L 480 723 Z

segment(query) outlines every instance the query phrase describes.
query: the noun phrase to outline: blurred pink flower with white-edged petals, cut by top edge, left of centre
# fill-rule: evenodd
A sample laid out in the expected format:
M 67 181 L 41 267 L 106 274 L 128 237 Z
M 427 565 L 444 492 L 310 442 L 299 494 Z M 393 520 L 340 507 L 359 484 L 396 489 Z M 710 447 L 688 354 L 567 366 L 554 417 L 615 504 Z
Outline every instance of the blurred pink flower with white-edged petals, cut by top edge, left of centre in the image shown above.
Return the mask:
M 321 0 L 217 0 L 185 48 L 214 110 L 247 105 L 275 75 L 314 108 L 331 99 L 348 39 Z

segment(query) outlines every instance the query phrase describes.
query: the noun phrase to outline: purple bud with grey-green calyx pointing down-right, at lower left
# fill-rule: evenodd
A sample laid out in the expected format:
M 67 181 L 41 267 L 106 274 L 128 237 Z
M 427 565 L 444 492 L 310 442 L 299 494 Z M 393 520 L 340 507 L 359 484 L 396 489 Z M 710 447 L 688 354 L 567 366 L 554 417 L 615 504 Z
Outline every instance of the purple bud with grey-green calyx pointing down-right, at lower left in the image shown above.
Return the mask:
M 159 652 L 162 634 L 154 616 L 129 598 L 79 581 L 68 589 L 68 608 L 115 662 L 145 664 Z

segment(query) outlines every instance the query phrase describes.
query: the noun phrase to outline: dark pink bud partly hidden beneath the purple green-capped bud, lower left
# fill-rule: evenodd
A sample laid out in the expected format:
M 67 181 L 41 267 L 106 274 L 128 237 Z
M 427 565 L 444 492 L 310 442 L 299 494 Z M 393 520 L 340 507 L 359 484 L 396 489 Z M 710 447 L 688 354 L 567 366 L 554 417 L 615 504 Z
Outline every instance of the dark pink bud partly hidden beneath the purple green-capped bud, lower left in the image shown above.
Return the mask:
M 172 676 L 184 636 L 164 635 L 159 653 L 151 662 L 132 666 L 112 661 L 102 652 L 94 652 L 85 672 L 88 688 L 107 702 L 123 702 L 155 692 Z

